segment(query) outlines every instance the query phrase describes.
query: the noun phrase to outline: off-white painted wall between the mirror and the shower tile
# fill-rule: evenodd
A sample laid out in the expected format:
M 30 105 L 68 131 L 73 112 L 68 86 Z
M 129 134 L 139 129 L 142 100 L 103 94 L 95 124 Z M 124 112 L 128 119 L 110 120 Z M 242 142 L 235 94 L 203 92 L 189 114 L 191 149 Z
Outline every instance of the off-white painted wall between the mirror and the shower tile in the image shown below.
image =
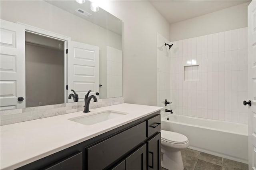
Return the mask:
M 157 105 L 157 32 L 168 39 L 169 23 L 148 1 L 106 1 L 100 5 L 124 22 L 125 102 Z

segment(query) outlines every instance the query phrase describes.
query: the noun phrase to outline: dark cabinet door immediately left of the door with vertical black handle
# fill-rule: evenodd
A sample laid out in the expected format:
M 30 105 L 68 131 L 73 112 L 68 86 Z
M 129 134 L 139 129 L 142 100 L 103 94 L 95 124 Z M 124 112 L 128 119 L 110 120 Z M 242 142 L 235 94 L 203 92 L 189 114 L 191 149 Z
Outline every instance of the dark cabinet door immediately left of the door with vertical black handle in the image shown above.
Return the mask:
M 141 146 L 138 150 L 132 153 L 128 158 L 125 159 L 125 169 L 126 170 L 146 170 L 146 154 L 147 147 L 146 144 Z

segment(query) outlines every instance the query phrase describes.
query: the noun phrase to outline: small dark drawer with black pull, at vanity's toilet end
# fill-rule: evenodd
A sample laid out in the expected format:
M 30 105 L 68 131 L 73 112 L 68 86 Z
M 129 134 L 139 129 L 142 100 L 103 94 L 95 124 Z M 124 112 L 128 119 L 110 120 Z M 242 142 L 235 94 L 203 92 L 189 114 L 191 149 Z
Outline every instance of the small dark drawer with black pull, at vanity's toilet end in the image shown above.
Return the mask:
M 156 132 L 161 130 L 161 115 L 156 115 L 146 121 L 147 137 L 152 136 Z

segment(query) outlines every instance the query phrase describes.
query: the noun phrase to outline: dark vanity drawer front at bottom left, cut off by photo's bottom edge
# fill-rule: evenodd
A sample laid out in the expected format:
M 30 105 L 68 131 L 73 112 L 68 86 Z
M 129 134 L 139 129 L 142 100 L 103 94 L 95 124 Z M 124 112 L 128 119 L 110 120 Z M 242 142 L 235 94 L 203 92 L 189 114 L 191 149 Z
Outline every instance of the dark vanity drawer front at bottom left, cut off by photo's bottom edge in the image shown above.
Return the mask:
M 44 170 L 82 170 L 82 152 L 62 159 Z

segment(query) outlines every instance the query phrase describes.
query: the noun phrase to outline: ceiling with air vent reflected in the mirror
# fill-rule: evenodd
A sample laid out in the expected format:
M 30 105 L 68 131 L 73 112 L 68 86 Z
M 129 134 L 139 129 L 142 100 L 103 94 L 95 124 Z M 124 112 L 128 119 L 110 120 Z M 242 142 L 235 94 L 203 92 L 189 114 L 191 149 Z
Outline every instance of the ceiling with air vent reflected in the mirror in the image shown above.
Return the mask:
M 112 14 L 106 12 L 102 8 L 98 12 L 90 10 L 90 1 L 86 1 L 84 4 L 78 4 L 75 0 L 45 0 L 49 4 L 57 6 L 62 10 L 70 12 L 84 20 L 92 22 L 98 26 L 106 28 L 116 34 L 122 35 L 122 20 L 116 18 Z M 84 16 L 78 12 L 77 9 L 82 9 L 90 14 L 91 16 Z

